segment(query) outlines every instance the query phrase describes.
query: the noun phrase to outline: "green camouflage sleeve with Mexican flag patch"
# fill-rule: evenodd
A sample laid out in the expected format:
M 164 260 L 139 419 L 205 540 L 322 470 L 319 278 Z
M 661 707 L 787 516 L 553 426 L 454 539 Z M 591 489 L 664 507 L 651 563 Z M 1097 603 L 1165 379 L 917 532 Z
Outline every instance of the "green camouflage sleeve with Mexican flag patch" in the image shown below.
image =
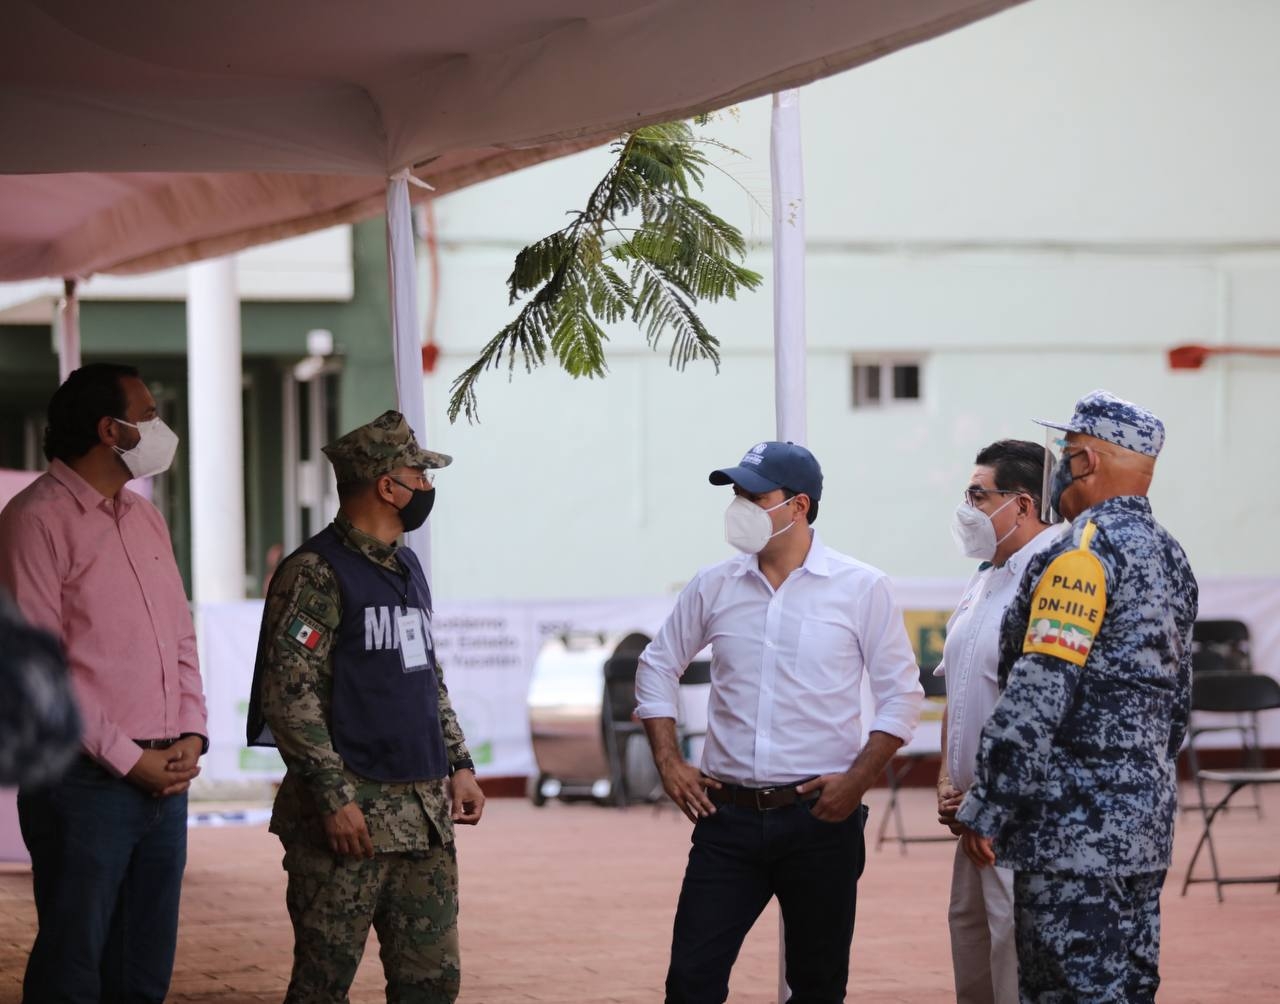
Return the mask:
M 329 736 L 333 663 L 342 620 L 338 579 L 319 555 L 294 555 L 276 569 L 264 612 L 262 715 L 291 771 L 324 812 L 356 800 Z

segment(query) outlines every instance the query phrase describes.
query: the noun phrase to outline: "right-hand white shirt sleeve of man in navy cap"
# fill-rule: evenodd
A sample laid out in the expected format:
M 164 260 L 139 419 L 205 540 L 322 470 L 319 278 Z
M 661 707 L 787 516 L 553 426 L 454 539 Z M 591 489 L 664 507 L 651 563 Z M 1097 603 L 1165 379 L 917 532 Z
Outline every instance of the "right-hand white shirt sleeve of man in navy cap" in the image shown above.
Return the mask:
M 867 599 L 863 662 L 876 698 L 876 720 L 868 731 L 888 733 L 910 743 L 924 704 L 920 667 L 888 579 L 877 581 Z

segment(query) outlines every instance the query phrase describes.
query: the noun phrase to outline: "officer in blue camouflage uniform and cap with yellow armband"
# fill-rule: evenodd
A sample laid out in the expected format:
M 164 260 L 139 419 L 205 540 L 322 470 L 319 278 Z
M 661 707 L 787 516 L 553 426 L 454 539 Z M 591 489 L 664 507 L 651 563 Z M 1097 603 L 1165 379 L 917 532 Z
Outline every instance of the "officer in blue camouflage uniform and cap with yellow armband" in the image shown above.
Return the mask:
M 977 863 L 1014 870 L 1024 1001 L 1151 1001 L 1198 590 L 1146 497 L 1160 419 L 1094 391 L 1041 424 L 1066 433 L 1050 498 L 1071 528 L 1005 615 L 957 820 Z

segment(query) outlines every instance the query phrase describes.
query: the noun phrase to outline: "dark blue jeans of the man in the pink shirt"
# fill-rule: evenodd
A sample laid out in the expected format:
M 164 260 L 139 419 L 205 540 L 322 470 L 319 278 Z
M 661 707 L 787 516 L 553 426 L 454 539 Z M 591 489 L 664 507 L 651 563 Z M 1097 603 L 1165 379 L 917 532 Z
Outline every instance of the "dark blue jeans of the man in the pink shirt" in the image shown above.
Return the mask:
M 152 798 L 88 757 L 18 793 L 36 944 L 27 1004 L 159 1004 L 178 943 L 187 795 Z

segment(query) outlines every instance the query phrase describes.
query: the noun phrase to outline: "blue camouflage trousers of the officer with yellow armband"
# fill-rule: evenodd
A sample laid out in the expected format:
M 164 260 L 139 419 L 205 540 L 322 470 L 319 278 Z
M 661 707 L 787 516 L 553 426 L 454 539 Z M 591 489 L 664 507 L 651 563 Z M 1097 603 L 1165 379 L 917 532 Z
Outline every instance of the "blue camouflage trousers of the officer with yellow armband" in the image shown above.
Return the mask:
M 1024 1004 L 1148 1004 L 1160 986 L 1165 872 L 1014 873 Z

